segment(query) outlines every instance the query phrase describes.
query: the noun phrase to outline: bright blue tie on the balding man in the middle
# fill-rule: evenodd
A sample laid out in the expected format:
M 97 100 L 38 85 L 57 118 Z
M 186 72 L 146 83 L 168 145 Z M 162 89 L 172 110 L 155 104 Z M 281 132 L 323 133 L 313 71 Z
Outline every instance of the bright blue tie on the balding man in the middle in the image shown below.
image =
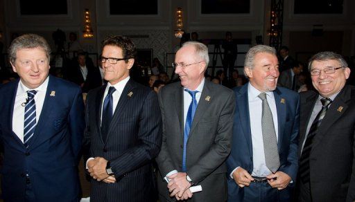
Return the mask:
M 192 125 L 193 116 L 195 116 L 195 112 L 196 112 L 196 108 L 197 108 L 196 93 L 198 93 L 198 91 L 190 91 L 188 89 L 185 89 L 184 91 L 187 91 L 192 97 L 192 100 L 191 100 L 191 103 L 189 106 L 189 110 L 187 111 L 186 121 L 185 121 L 184 152 L 182 154 L 182 172 L 187 172 L 186 146 L 187 146 L 187 140 L 189 139 L 189 133 L 190 133 L 191 125 Z

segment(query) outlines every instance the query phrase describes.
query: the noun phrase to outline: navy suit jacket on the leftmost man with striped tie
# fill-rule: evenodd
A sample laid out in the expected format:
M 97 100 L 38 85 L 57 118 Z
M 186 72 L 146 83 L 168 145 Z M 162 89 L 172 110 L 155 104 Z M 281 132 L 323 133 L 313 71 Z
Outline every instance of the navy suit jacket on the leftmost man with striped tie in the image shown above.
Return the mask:
M 26 149 L 12 131 L 18 82 L 0 88 L 3 199 L 24 201 L 27 173 L 37 201 L 76 201 L 79 194 L 76 166 L 85 127 L 80 88 L 49 76 L 40 120 Z

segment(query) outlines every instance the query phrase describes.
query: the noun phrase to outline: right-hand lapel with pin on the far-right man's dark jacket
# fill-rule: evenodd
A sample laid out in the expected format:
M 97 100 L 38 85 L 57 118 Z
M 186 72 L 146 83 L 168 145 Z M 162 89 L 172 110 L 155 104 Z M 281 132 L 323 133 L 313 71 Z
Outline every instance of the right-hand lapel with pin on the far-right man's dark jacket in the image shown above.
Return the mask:
M 332 127 L 334 122 L 336 122 L 347 111 L 349 106 L 346 102 L 350 100 L 350 98 L 351 93 L 348 91 L 347 86 L 345 86 L 344 89 L 336 96 L 334 102 L 330 105 L 327 113 L 320 123 L 318 132 L 313 139 L 312 148 L 317 147 L 317 145 L 322 141 L 324 134 L 327 134 L 327 130 Z

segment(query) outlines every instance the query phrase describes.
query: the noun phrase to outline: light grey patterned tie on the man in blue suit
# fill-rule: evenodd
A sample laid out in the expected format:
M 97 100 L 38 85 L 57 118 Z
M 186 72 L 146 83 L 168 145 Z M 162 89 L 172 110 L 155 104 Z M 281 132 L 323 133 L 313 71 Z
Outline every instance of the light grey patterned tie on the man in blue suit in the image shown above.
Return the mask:
M 277 149 L 277 139 L 275 132 L 274 120 L 272 113 L 266 100 L 266 93 L 260 93 L 258 96 L 263 100 L 263 111 L 261 113 L 261 130 L 263 132 L 263 150 L 265 154 L 266 167 L 272 173 L 277 172 L 280 167 L 279 151 Z

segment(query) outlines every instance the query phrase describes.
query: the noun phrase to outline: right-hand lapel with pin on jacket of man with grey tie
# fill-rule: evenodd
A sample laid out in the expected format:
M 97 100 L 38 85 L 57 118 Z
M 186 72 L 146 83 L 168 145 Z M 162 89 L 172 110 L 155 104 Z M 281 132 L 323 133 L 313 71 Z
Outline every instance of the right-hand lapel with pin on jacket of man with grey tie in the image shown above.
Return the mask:
M 282 138 L 284 137 L 284 125 L 286 121 L 286 102 L 287 100 L 282 96 L 282 93 L 279 89 L 275 89 L 274 91 L 274 98 L 276 104 L 276 111 L 277 111 L 277 128 L 278 128 L 278 141 L 277 147 L 279 152 L 281 151 L 282 146 Z

